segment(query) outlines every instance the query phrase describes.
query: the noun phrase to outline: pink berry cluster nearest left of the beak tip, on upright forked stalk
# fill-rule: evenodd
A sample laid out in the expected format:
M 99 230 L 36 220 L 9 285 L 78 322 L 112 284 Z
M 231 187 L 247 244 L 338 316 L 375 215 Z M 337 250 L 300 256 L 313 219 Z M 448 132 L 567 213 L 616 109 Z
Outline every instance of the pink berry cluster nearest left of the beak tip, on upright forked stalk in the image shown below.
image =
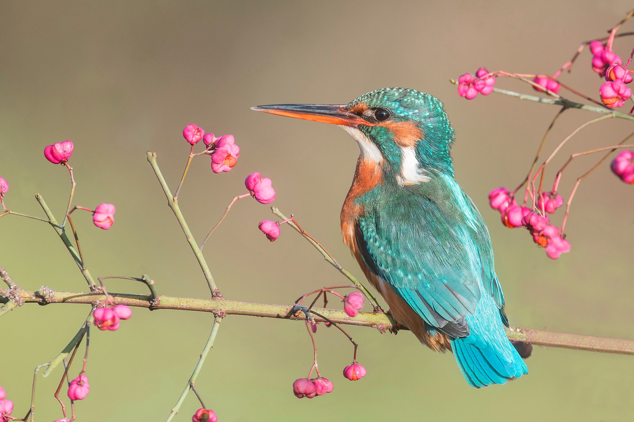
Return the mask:
M 211 155 L 211 170 L 214 173 L 231 171 L 231 168 L 238 163 L 240 147 L 236 145 L 233 135 L 215 137 L 213 133 L 205 133 L 203 128 L 190 123 L 184 127 L 183 137 L 192 147 L 200 140 L 204 142 Z

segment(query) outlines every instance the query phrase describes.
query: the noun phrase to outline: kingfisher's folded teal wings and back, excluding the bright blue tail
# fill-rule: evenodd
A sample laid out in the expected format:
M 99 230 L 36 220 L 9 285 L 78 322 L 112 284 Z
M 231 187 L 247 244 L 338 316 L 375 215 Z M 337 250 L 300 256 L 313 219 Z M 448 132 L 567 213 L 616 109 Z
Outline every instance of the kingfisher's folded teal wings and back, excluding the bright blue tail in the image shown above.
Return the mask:
M 370 271 L 429 325 L 456 338 L 469 335 L 465 317 L 480 300 L 479 279 L 507 323 L 488 230 L 469 197 L 459 193 L 457 202 L 402 195 L 366 209 L 356 227 L 359 252 Z

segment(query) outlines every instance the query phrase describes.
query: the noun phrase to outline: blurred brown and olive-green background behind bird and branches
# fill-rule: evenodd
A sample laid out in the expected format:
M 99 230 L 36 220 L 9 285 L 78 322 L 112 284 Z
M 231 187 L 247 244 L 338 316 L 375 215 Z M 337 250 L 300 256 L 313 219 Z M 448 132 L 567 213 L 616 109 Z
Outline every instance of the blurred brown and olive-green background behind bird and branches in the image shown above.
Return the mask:
M 547 258 L 524 230 L 503 227 L 487 194 L 514 188 L 526 175 L 553 106 L 492 94 L 466 101 L 448 80 L 479 66 L 554 73 L 582 40 L 606 35 L 631 8 L 628 1 L 115 1 L 0 3 L 0 176 L 16 212 L 43 216 L 40 192 L 58 219 L 68 200 L 68 172 L 44 159 L 44 146 L 70 139 L 75 151 L 75 204 L 117 207 L 112 230 L 79 211 L 87 266 L 96 276 L 148 273 L 159 294 L 208 297 L 209 291 L 178 223 L 166 206 L 145 152 L 156 151 L 176 189 L 189 152 L 181 135 L 194 122 L 232 133 L 241 148 L 230 173 L 216 175 L 195 159 L 179 204 L 198 243 L 253 171 L 273 179 L 274 206 L 294 213 L 359 280 L 363 275 L 339 233 L 339 211 L 358 147 L 337 127 L 256 113 L 250 106 L 285 102 L 341 104 L 382 87 L 429 92 L 445 104 L 456 143 L 456 178 L 489 225 L 496 270 L 512 325 L 605 337 L 634 338 L 633 187 L 605 163 L 581 184 L 567 224 L 572 252 Z M 628 22 L 623 30 L 632 30 Z M 618 39 L 625 58 L 633 39 Z M 598 96 L 602 82 L 581 54 L 562 80 Z M 515 80 L 497 86 L 532 94 Z M 627 112 L 630 104 L 626 104 Z M 567 111 L 547 144 L 596 115 Z M 631 121 L 603 121 L 562 150 L 547 181 L 573 152 L 616 144 Z M 202 144 L 202 142 L 201 142 Z M 200 147 L 200 146 L 197 146 Z M 595 162 L 569 166 L 561 191 Z M 562 213 L 553 218 L 558 224 Z M 228 299 L 288 304 L 304 292 L 346 280 L 305 240 L 283 227 L 270 243 L 257 230 L 273 219 L 252 199 L 233 206 L 205 247 Z M 0 220 L 0 265 L 23 289 L 86 290 L 51 227 L 36 220 Z M 145 294 L 141 283 L 108 280 L 113 292 Z M 332 306 L 339 306 L 332 302 Z M 87 305 L 27 305 L 0 321 L 0 385 L 29 407 L 33 368 L 67 344 Z M 93 330 L 87 375 L 91 394 L 77 403 L 79 420 L 164 420 L 209 335 L 211 314 L 134 309 L 117 332 Z M 453 356 L 429 351 L 408 332 L 394 336 L 350 328 L 368 375 L 348 382 L 341 371 L 352 347 L 320 325 L 322 374 L 333 394 L 297 400 L 312 347 L 304 324 L 228 316 L 197 380 L 220 421 L 486 420 L 624 421 L 634 402 L 634 356 L 535 347 L 530 374 L 503 387 L 474 390 Z M 80 361 L 81 362 L 81 361 Z M 79 363 L 72 368 L 74 378 Z M 37 384 L 40 421 L 61 418 L 53 392 L 61 368 Z M 65 390 L 64 390 L 65 391 Z M 63 394 L 65 397 L 65 394 Z M 174 420 L 198 408 L 188 395 Z

